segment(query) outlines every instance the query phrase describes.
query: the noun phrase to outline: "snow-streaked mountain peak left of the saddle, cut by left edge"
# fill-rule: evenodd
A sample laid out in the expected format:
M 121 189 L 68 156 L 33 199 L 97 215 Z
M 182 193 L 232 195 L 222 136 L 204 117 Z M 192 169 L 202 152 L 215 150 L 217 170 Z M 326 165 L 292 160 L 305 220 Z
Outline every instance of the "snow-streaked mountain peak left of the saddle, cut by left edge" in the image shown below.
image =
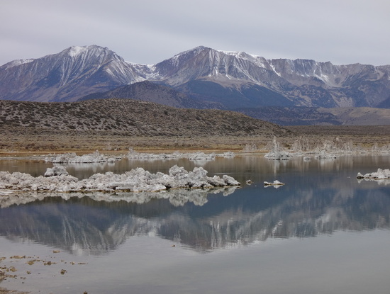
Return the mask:
M 0 67 L 0 97 L 18 101 L 75 101 L 138 79 L 133 66 L 108 48 L 69 47 L 36 60 L 4 64 Z

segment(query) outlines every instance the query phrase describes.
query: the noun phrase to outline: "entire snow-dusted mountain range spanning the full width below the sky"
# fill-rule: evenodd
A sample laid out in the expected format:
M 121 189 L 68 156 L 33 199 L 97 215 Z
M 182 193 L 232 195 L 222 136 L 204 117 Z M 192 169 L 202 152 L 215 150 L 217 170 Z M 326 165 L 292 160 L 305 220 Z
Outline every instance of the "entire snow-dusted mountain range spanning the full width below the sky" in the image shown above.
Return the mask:
M 0 98 L 76 101 L 87 94 L 147 80 L 186 94 L 192 100 L 189 104 L 196 101 L 218 108 L 386 107 L 389 77 L 390 65 L 267 60 L 203 46 L 157 64 L 133 64 L 107 48 L 92 45 L 4 64 L 0 67 Z

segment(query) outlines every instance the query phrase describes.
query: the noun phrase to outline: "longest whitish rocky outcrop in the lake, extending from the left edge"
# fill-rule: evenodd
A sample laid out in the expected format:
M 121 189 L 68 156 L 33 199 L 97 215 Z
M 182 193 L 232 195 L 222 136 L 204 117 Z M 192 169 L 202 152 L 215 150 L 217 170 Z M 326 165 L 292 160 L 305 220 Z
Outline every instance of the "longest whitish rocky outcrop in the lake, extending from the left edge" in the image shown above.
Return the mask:
M 208 177 L 202 167 L 186 171 L 183 167 L 172 166 L 169 174 L 157 172 L 151 174 L 145 169 L 137 168 L 125 174 L 94 174 L 88 179 L 79 180 L 67 174 L 64 167 L 54 167 L 46 171 L 45 176 L 33 177 L 30 174 L 0 171 L 0 195 L 7 196 L 16 192 L 159 192 L 170 188 L 215 188 L 240 186 L 231 176 Z

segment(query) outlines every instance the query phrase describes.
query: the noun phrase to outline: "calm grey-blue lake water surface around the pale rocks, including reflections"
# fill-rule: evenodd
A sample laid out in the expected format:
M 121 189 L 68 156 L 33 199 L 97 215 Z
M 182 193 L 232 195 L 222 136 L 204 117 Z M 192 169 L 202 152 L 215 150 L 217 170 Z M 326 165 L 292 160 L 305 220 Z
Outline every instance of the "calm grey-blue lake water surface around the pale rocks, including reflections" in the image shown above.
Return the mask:
M 389 156 L 123 159 L 67 170 L 83 179 L 138 166 L 167 173 L 174 164 L 203 166 L 208 176 L 228 174 L 242 186 L 138 203 L 45 198 L 1 208 L 0 257 L 6 259 L 0 266 L 17 271 L 0 287 L 89 294 L 389 293 L 390 184 L 356 179 L 359 171 L 389 169 Z M 0 161 L 1 171 L 33 176 L 50 166 Z M 286 184 L 264 188 L 275 179 Z

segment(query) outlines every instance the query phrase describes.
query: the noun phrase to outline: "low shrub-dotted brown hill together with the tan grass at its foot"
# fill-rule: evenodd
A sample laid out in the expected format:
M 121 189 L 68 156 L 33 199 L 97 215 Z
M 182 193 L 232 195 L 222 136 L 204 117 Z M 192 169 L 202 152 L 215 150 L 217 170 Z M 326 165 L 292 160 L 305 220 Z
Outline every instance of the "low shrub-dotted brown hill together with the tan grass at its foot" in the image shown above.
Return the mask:
M 180 109 L 145 101 L 98 99 L 73 103 L 0 101 L 0 149 L 94 149 L 118 146 L 230 148 L 291 131 L 220 110 Z M 219 143 L 217 142 L 219 138 Z M 221 143 L 222 142 L 222 143 Z

